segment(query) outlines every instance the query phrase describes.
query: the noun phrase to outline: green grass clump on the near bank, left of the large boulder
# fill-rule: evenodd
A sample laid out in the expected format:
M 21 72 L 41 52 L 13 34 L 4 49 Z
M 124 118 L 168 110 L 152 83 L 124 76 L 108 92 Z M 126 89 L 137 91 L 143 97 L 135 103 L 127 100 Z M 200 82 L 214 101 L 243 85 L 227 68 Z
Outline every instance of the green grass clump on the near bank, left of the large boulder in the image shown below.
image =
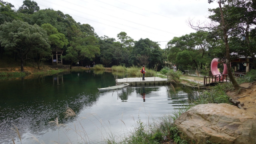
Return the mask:
M 174 125 L 174 120 L 190 107 L 181 108 L 172 114 L 163 115 L 157 119 L 152 119 L 146 123 L 138 119 L 136 125 L 128 133 L 111 139 L 106 139 L 108 144 L 156 144 L 164 140 L 173 139 L 179 144 L 187 144 L 186 140 L 182 140 L 179 136 L 180 131 Z

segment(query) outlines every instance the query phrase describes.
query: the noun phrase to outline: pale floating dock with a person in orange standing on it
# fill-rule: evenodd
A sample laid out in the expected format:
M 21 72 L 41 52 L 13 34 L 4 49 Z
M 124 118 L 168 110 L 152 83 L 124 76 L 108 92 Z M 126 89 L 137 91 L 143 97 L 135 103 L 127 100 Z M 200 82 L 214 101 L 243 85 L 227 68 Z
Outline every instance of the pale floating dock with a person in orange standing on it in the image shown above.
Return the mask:
M 115 79 L 117 85 L 121 84 L 132 84 L 132 85 L 166 85 L 168 82 L 167 78 L 160 78 L 160 77 L 145 77 L 145 80 L 142 78 L 135 77 L 135 78 L 122 78 L 122 79 Z

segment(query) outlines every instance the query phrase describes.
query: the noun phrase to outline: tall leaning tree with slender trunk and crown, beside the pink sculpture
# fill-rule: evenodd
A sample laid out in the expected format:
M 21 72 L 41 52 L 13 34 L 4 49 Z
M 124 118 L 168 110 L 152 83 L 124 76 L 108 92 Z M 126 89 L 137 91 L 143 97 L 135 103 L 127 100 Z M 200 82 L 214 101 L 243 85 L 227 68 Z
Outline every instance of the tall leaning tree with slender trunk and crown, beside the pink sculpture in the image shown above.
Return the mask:
M 214 2 L 214 0 L 208 0 L 209 3 Z M 248 30 L 246 27 L 244 27 L 243 21 L 247 19 L 246 9 L 244 7 L 239 7 L 237 4 L 239 3 L 251 3 L 252 1 L 249 0 L 234 0 L 234 1 L 218 1 L 219 7 L 215 9 L 209 9 L 209 12 L 212 12 L 213 14 L 209 16 L 209 19 L 211 20 L 211 23 L 202 25 L 202 23 L 194 24 L 192 20 L 189 20 L 188 24 L 196 30 L 207 30 L 207 31 L 217 31 L 217 34 L 224 42 L 225 46 L 225 56 L 226 56 L 226 64 L 228 69 L 228 76 L 230 78 L 230 81 L 232 82 L 235 89 L 239 89 L 240 86 L 238 85 L 237 81 L 234 79 L 231 67 L 230 67 L 230 60 L 231 60 L 231 53 L 230 46 L 229 46 L 229 38 L 230 36 L 241 36 L 243 34 L 242 32 L 248 33 Z M 223 7 L 222 7 L 223 5 Z M 252 5 L 252 3 L 251 3 Z M 244 9 L 244 10 L 242 10 Z M 255 15 L 255 12 L 254 12 Z M 254 19 L 251 19 L 252 23 L 255 23 Z M 242 31 L 241 31 L 242 30 Z M 218 33 L 218 31 L 221 31 Z M 214 32 L 216 33 L 216 32 Z

